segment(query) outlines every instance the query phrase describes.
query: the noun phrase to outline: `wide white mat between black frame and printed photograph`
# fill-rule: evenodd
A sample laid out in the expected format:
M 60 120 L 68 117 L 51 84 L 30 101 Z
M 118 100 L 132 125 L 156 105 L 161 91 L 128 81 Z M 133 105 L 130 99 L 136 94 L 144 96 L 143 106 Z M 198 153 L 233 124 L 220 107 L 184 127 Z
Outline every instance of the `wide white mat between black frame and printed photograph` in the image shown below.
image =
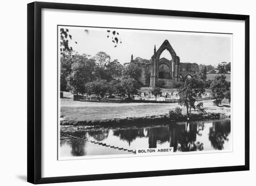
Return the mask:
M 112 158 L 101 159 L 58 160 L 57 25 L 233 33 L 233 60 L 231 62 L 233 151 L 227 153 L 221 151 L 164 156 L 126 156 L 122 158 L 112 156 Z M 244 34 L 244 21 L 238 20 L 43 9 L 42 177 L 244 165 Z M 233 74 L 238 75 L 233 76 Z

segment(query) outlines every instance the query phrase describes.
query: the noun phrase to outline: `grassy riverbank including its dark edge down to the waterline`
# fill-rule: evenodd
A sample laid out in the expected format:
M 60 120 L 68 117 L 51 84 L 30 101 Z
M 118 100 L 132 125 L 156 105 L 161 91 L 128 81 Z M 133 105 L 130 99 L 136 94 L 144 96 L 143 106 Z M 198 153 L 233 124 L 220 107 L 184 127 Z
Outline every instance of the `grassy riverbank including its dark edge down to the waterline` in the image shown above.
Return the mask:
M 230 117 L 229 105 L 217 107 L 213 100 L 203 102 L 206 114 L 191 110 L 191 120 Z M 61 125 L 121 125 L 132 123 L 168 122 L 174 118 L 169 110 L 180 107 L 186 121 L 186 109 L 178 103 L 93 103 L 61 99 Z

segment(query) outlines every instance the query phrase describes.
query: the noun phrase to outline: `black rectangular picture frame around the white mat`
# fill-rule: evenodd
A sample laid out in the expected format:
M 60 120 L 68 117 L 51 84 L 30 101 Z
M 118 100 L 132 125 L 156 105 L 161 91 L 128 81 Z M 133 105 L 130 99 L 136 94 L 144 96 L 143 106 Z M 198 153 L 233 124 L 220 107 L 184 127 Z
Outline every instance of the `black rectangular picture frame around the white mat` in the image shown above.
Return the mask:
M 42 8 L 133 13 L 245 21 L 245 164 L 178 170 L 41 177 L 41 10 Z M 249 170 L 249 15 L 94 6 L 49 2 L 27 4 L 27 181 L 33 184 Z

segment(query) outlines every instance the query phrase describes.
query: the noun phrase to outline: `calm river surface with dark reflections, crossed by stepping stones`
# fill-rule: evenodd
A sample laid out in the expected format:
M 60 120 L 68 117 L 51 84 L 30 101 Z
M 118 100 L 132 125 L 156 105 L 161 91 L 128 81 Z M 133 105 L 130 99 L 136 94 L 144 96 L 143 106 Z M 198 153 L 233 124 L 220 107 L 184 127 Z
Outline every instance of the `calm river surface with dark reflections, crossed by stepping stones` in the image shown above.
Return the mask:
M 110 148 L 168 148 L 174 152 L 231 149 L 230 119 L 178 122 L 147 127 L 101 128 L 69 132 L 68 135 L 106 143 L 107 147 L 77 138 L 61 137 L 61 156 L 123 154 Z

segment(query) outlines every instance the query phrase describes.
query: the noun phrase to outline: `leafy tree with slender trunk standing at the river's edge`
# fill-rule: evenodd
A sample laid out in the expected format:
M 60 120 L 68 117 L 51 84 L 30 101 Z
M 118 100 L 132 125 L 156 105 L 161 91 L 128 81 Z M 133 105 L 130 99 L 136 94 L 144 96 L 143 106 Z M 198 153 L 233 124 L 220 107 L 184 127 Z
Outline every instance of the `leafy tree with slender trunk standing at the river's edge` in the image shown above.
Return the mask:
M 204 83 L 195 78 L 187 78 L 185 83 L 178 89 L 179 104 L 187 109 L 188 118 L 191 115 L 191 108 L 195 109 L 195 101 L 205 92 Z

